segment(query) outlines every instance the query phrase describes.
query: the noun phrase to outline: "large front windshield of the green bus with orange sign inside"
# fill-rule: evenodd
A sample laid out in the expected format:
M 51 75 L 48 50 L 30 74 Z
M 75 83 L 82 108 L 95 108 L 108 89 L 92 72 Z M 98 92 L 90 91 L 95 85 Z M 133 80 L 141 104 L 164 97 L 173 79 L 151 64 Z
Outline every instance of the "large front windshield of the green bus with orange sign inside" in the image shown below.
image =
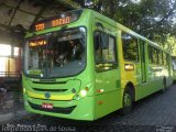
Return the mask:
M 85 68 L 85 28 L 30 37 L 24 47 L 24 73 L 37 78 L 76 75 Z

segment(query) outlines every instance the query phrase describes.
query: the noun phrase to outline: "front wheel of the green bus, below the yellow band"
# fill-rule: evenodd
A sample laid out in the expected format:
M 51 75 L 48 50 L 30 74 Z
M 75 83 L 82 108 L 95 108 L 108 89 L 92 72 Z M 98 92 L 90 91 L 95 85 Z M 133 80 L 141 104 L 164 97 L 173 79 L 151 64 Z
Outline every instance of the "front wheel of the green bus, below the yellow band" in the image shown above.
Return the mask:
M 122 101 L 122 110 L 121 113 L 123 116 L 131 113 L 132 111 L 132 103 L 133 103 L 133 99 L 132 99 L 132 91 L 129 88 L 129 86 L 124 89 L 124 94 L 123 94 L 123 101 Z

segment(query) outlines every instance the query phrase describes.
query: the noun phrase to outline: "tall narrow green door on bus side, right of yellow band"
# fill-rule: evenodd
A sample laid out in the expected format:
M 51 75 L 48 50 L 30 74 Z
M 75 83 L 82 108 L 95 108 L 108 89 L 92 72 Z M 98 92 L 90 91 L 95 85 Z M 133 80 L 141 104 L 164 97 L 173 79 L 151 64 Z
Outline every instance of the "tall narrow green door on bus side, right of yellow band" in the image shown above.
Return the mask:
M 145 43 L 140 41 L 142 82 L 146 82 Z

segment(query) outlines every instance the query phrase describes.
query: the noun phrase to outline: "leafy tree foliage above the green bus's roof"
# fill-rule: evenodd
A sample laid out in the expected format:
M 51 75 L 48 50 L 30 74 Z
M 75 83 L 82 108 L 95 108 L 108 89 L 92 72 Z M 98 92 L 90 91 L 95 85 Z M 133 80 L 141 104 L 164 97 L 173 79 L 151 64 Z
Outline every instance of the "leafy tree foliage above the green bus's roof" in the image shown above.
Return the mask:
M 176 37 L 176 0 L 76 0 L 160 43 Z

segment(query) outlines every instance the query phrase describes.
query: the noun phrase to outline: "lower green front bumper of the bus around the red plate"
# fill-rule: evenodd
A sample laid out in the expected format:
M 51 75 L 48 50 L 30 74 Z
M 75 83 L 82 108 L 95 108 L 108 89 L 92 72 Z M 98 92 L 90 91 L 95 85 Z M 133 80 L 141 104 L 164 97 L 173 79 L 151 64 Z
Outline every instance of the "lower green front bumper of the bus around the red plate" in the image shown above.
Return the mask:
M 79 100 L 52 101 L 34 99 L 24 95 L 24 108 L 29 112 L 45 114 L 51 117 L 74 119 L 74 120 L 95 120 L 94 97 L 85 97 Z M 52 105 L 52 109 L 42 106 Z

